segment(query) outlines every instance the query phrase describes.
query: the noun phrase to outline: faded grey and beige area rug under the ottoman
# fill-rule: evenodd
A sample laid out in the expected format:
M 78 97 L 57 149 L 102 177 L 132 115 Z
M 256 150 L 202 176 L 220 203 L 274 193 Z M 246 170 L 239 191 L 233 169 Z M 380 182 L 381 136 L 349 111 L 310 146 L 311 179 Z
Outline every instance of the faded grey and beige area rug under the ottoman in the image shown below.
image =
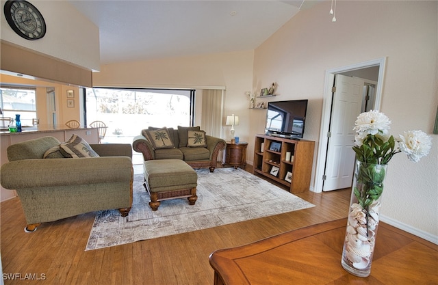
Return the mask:
M 158 210 L 149 207 L 144 176 L 133 182 L 133 206 L 127 217 L 118 210 L 99 211 L 86 250 L 123 245 L 161 236 L 213 228 L 292 212 L 315 205 L 242 169 L 196 170 L 196 204 L 187 198 L 162 201 Z

